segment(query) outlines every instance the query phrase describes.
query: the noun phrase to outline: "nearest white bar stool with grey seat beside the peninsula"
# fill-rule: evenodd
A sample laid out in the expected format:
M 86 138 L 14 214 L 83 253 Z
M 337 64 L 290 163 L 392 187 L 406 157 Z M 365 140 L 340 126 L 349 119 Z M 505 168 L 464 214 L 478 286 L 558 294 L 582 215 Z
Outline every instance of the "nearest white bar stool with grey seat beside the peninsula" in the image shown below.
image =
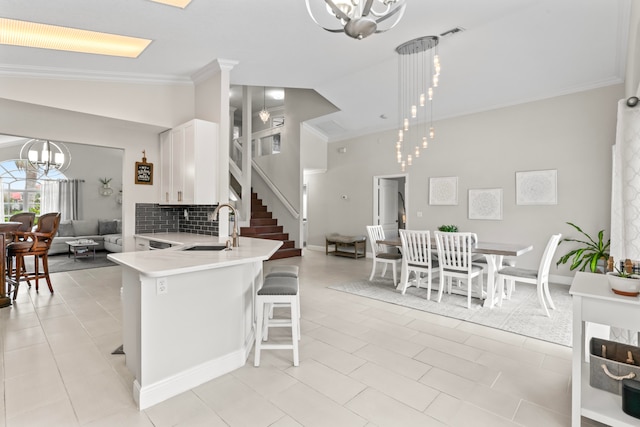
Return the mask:
M 260 366 L 262 350 L 293 350 L 293 366 L 298 366 L 298 340 L 300 339 L 300 305 L 298 304 L 299 285 L 294 277 L 267 277 L 256 295 L 256 348 L 254 366 Z M 289 319 L 271 319 L 271 305 L 288 305 L 291 310 Z M 265 310 L 265 305 L 267 309 Z M 269 339 L 270 327 L 290 327 L 291 344 L 263 344 Z

